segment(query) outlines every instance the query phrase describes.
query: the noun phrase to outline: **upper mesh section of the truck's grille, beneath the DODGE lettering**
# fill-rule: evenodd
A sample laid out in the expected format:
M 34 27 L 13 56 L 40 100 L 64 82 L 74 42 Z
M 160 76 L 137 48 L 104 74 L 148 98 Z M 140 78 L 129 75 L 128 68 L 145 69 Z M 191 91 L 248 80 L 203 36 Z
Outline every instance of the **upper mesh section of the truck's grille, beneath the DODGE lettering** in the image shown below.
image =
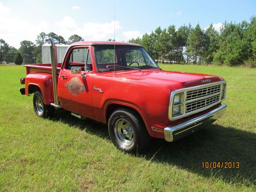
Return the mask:
M 203 89 L 199 89 L 199 90 L 188 91 L 186 100 L 189 101 L 192 99 L 196 99 L 196 98 L 204 97 L 204 96 L 211 95 L 214 93 L 218 93 L 220 91 L 221 91 L 220 84 L 218 86 L 212 86 L 212 87 L 203 88 Z

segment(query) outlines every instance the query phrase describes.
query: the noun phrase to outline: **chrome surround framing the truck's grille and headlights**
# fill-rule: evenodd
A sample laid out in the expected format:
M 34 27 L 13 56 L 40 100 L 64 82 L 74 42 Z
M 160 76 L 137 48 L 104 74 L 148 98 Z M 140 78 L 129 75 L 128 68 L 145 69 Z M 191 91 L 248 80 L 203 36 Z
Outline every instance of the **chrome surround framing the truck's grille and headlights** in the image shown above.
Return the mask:
M 200 86 L 195 86 L 195 87 L 190 87 L 190 88 L 184 88 L 184 89 L 179 89 L 179 90 L 175 90 L 173 91 L 171 94 L 170 94 L 170 99 L 169 99 L 169 108 L 168 108 L 168 118 L 169 120 L 177 120 L 177 119 L 181 119 L 181 118 L 184 118 L 184 117 L 187 117 L 189 115 L 194 115 L 196 113 L 199 113 L 199 112 L 202 112 L 204 110 L 207 110 L 209 108 L 211 108 L 212 106 L 222 102 L 224 99 L 221 99 L 221 95 L 222 95 L 222 86 L 221 86 L 221 91 L 218 92 L 218 94 L 220 94 L 220 100 L 218 102 L 215 102 L 215 103 L 212 103 L 210 105 L 207 105 L 205 106 L 204 108 L 200 108 L 198 110 L 195 110 L 195 111 L 191 111 L 191 112 L 188 112 L 186 113 L 185 110 L 184 110 L 184 113 L 182 115 L 178 115 L 178 116 L 174 116 L 173 117 L 173 102 L 174 102 L 174 96 L 176 94 L 179 94 L 179 93 L 184 93 L 184 109 L 186 108 L 186 103 L 190 103 L 190 101 L 197 101 L 197 100 L 201 100 L 201 99 L 206 99 L 206 98 L 209 98 L 211 96 L 214 96 L 215 94 L 211 94 L 211 95 L 207 95 L 207 96 L 204 96 L 204 97 L 199 97 L 199 98 L 196 98 L 196 99 L 193 99 L 193 100 L 188 100 L 186 101 L 186 94 L 188 91 L 191 91 L 191 90 L 198 90 L 198 89 L 202 89 L 202 88 L 207 88 L 207 87 L 212 87 L 212 86 L 215 86 L 215 85 L 218 85 L 218 84 L 223 84 L 223 83 L 226 83 L 225 80 L 223 81 L 218 81 L 218 82 L 213 82 L 213 83 L 208 83 L 208 84 L 202 84 Z M 218 95 L 216 93 L 216 95 Z

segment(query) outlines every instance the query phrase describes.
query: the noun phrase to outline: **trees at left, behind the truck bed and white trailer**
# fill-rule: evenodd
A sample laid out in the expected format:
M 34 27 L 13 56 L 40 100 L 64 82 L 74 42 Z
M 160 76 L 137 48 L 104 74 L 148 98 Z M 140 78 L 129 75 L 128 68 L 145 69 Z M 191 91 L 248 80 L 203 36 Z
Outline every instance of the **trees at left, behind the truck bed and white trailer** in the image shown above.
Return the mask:
M 35 39 L 35 44 L 29 40 L 23 40 L 20 42 L 20 47 L 16 48 L 9 46 L 4 39 L 0 39 L 0 63 L 3 62 L 15 62 L 17 65 L 29 64 L 29 63 L 41 63 L 41 47 L 43 44 L 50 44 L 49 37 L 55 39 L 55 43 L 58 45 L 69 45 L 73 42 L 83 41 L 83 38 L 79 35 L 71 35 L 66 41 L 61 35 L 56 33 L 41 32 Z

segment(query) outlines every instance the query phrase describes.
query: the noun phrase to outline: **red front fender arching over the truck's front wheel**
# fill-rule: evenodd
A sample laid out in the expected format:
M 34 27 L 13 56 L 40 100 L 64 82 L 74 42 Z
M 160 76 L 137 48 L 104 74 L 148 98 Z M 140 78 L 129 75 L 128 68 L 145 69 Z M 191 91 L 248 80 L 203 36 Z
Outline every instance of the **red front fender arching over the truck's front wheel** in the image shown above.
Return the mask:
M 163 132 L 153 131 L 152 127 L 162 129 L 169 124 L 169 96 L 173 88 L 158 83 L 126 80 L 123 78 L 98 75 L 94 78 L 93 106 L 95 119 L 107 123 L 106 108 L 110 104 L 129 106 L 142 117 L 148 133 L 152 137 L 163 138 Z

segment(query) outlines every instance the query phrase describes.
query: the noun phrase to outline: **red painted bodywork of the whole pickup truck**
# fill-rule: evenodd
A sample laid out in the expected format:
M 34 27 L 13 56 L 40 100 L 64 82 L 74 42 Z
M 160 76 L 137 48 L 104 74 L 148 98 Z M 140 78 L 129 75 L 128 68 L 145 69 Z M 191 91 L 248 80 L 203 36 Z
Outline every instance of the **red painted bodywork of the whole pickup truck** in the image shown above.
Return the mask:
M 90 48 L 93 71 L 82 72 L 86 74 L 85 79 L 80 74 L 71 74 L 71 70 L 65 69 L 64 65 L 61 66 L 61 63 L 58 63 L 57 93 L 62 108 L 96 121 L 107 123 L 106 110 L 110 104 L 129 106 L 141 115 L 147 131 L 152 137 L 164 138 L 163 133 L 153 131 L 151 129 L 152 126 L 163 129 L 166 126 L 179 124 L 199 116 L 199 114 L 196 114 L 184 119 L 170 121 L 168 119 L 168 105 L 172 91 L 223 80 L 221 77 L 212 75 L 158 69 L 116 71 L 115 75 L 114 72 L 97 72 L 94 50 L 92 49 L 95 44 L 139 46 L 137 44 L 113 41 L 81 41 L 72 44 L 67 51 L 67 55 L 74 48 Z M 67 59 L 66 56 L 63 63 L 66 63 Z M 26 68 L 26 94 L 28 95 L 28 86 L 34 84 L 41 90 L 45 104 L 53 102 L 51 64 L 26 65 Z M 49 74 L 40 73 L 40 71 L 29 73 L 30 68 L 48 70 Z M 65 75 L 67 78 L 61 78 L 61 75 Z M 79 94 L 72 94 L 67 89 L 67 83 L 74 77 L 79 78 L 84 86 L 84 90 Z M 203 79 L 210 79 L 211 81 L 202 83 Z M 103 93 L 94 90 L 94 87 L 101 89 Z M 207 111 L 216 108 L 216 106 Z M 200 114 L 204 114 L 207 111 Z

